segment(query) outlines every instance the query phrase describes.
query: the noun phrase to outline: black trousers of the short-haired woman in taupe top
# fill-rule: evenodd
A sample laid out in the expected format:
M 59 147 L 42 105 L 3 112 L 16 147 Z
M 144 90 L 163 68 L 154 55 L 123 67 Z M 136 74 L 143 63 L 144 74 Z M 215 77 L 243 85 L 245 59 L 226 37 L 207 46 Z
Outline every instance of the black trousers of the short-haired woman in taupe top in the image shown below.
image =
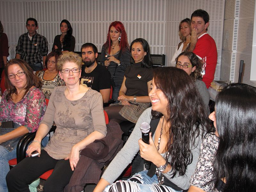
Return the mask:
M 40 157 L 26 157 L 6 176 L 9 191 L 29 192 L 28 185 L 44 172 L 54 169 L 44 183 L 44 192 L 64 191 L 73 174 L 69 160 L 54 159 L 43 149 Z

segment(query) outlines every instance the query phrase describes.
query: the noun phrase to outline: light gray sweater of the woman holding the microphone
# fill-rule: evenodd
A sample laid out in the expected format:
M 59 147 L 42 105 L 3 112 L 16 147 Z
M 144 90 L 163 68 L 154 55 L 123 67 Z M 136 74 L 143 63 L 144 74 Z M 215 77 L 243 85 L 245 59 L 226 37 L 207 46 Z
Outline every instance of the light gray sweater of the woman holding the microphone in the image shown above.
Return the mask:
M 112 162 L 109 164 L 107 170 L 103 173 L 102 175 L 103 179 L 107 180 L 109 183 L 113 183 L 119 177 L 119 175 L 124 171 L 126 166 L 132 162 L 132 159 L 140 149 L 138 144 L 138 140 L 141 138 L 140 124 L 143 122 L 150 123 L 150 121 L 151 121 L 151 107 L 146 109 L 142 113 L 142 115 L 137 121 L 137 124 L 135 125 L 134 130 L 132 131 L 132 134 L 127 140 L 126 144 L 119 151 L 119 153 L 112 160 Z M 164 174 L 166 178 L 168 178 L 170 181 L 172 181 L 174 184 L 176 184 L 178 187 L 182 189 L 189 188 L 190 176 L 193 174 L 193 172 L 196 169 L 201 141 L 202 141 L 201 137 L 198 137 L 196 139 L 196 146 L 191 146 L 192 148 L 191 152 L 193 154 L 193 162 L 188 165 L 185 175 L 179 176 L 179 174 L 176 174 L 176 176 L 171 179 L 172 177 L 171 171 Z M 169 157 L 169 161 L 170 159 L 171 157 Z

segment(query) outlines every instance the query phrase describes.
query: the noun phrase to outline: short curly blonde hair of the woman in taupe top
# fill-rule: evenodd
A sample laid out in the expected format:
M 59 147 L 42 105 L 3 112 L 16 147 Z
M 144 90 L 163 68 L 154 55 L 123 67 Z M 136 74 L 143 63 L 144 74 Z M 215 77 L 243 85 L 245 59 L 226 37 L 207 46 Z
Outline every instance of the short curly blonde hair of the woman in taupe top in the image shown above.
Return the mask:
M 60 55 L 60 57 L 57 60 L 57 69 L 60 71 L 62 69 L 62 66 L 67 63 L 72 62 L 76 63 L 76 65 L 81 69 L 83 65 L 82 57 L 80 57 L 78 54 L 74 52 L 66 52 Z

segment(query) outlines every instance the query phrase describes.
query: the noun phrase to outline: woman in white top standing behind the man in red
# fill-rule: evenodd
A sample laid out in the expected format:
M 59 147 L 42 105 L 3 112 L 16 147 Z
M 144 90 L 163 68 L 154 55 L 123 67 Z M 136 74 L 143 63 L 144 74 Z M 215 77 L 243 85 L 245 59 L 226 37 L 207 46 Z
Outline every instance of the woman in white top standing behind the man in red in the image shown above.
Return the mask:
M 190 19 L 186 18 L 180 21 L 179 25 L 179 36 L 181 42 L 178 44 L 175 53 L 173 54 L 171 65 L 175 66 L 175 60 L 177 56 L 183 52 L 188 51 L 190 48 L 190 33 L 191 33 L 191 21 Z

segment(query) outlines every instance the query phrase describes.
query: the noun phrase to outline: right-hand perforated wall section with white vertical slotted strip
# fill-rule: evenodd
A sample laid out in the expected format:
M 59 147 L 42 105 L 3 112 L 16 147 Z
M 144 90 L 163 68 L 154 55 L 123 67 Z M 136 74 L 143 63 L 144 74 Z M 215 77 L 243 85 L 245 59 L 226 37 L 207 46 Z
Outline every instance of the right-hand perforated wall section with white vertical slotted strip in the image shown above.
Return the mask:
M 242 83 L 250 81 L 255 0 L 226 0 L 223 29 L 221 80 L 238 82 L 240 60 L 244 60 Z

